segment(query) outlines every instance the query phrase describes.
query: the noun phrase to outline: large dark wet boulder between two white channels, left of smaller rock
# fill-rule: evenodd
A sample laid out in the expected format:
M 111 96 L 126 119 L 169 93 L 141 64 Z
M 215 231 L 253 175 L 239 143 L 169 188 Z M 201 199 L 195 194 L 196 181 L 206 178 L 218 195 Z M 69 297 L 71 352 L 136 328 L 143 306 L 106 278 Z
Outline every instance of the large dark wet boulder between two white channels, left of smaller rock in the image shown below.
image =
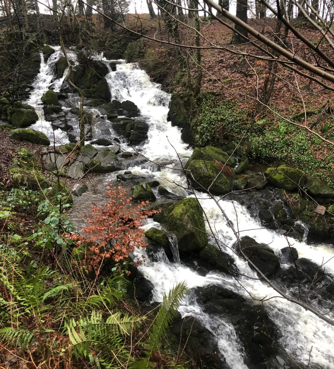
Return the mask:
M 269 246 L 259 244 L 253 238 L 244 236 L 240 239 L 240 249 L 238 250 L 240 254 L 244 253 L 268 278 L 274 276 L 279 270 L 279 257 Z

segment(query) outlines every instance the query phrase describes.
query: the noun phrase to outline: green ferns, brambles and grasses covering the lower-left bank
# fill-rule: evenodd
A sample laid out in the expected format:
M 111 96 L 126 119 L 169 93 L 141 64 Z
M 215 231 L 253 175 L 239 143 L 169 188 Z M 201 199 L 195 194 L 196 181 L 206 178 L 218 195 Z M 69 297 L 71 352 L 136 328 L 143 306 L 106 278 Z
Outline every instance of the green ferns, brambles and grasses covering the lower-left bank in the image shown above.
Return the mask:
M 126 295 L 127 264 L 117 268 L 109 260 L 98 275 L 88 268 L 89 244 L 77 246 L 68 237 L 74 230 L 66 213 L 72 201 L 59 178 L 45 177 L 24 149 L 14 163 L 16 188 L 2 183 L 0 191 L 1 363 L 6 368 L 155 367 L 185 284 L 174 286 L 157 311 L 140 313 Z M 36 179 L 34 189 L 29 178 Z M 110 250 L 112 242 L 108 245 Z M 171 356 L 164 361 L 166 368 L 183 368 Z

